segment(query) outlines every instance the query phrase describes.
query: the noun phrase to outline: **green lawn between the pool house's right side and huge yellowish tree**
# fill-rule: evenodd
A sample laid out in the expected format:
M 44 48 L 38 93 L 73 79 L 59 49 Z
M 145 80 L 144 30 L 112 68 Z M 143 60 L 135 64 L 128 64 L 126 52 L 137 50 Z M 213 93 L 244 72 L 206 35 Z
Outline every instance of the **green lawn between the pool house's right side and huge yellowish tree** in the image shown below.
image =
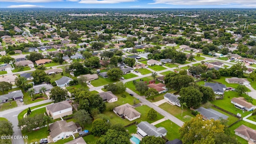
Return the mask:
M 155 126 L 157 128 L 158 127 L 163 127 L 167 130 L 167 133 L 166 133 L 165 137 L 168 140 L 174 140 L 176 138 L 180 138 L 180 133 L 179 133 L 180 126 L 178 126 L 177 124 L 175 124 L 174 122 L 172 122 L 170 120 L 165 120 L 164 122 L 156 124 Z

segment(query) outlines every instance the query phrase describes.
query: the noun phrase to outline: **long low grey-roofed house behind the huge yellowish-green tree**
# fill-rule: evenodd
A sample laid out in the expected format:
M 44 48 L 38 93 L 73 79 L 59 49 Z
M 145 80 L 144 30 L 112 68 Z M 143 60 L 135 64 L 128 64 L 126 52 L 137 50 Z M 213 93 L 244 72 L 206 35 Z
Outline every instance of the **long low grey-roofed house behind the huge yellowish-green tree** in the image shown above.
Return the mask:
M 204 120 L 221 120 L 221 119 L 228 119 L 228 116 L 226 116 L 225 114 L 222 114 L 216 110 L 213 110 L 211 108 L 204 108 L 204 107 L 200 107 L 198 109 L 196 109 L 195 111 L 200 112 L 200 114 L 203 116 Z

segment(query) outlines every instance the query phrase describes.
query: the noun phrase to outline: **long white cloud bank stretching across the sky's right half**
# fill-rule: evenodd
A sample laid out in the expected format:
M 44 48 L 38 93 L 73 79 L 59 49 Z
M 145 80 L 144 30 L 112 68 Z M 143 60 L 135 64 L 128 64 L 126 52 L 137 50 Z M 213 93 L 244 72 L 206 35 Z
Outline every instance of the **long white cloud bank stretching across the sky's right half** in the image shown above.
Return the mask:
M 154 0 L 148 4 L 172 4 L 172 5 L 250 5 L 255 6 L 256 0 Z

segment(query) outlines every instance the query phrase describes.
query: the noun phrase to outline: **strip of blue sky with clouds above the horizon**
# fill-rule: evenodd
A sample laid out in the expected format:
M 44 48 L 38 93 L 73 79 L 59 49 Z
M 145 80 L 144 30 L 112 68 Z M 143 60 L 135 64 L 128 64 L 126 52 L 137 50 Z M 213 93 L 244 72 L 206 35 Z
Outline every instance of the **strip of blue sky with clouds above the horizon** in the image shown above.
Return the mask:
M 256 0 L 0 0 L 0 8 L 256 8 Z

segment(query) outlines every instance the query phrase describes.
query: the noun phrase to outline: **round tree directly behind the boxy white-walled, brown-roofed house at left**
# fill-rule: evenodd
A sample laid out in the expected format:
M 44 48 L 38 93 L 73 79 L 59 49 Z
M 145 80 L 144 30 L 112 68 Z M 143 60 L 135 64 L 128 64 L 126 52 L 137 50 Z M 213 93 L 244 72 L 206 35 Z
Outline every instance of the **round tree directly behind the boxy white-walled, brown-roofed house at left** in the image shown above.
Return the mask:
M 68 91 L 67 90 L 64 90 L 64 89 L 62 89 L 58 86 L 54 86 L 51 89 L 50 98 L 52 100 L 54 100 L 54 103 L 66 100 L 67 97 L 68 97 Z

